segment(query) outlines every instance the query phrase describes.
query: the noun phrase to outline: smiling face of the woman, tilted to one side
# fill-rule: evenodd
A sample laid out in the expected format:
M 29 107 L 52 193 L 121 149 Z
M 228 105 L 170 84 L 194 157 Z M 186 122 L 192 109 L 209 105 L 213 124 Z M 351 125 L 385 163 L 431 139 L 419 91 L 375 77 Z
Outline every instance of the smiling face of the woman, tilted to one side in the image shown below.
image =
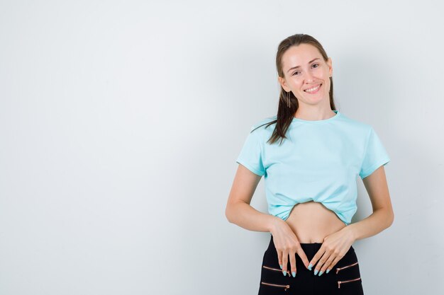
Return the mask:
M 292 91 L 299 105 L 316 105 L 321 102 L 330 105 L 328 92 L 333 74 L 330 57 L 325 62 L 313 45 L 292 46 L 282 56 L 282 70 L 284 79 L 279 77 L 279 83 L 285 91 Z

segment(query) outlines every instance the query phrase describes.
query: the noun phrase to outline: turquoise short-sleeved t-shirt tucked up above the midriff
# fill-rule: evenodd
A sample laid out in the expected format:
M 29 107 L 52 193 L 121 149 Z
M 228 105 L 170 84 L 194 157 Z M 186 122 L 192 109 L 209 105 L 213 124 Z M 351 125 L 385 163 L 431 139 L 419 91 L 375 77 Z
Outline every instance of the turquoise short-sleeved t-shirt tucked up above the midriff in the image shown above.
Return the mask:
M 390 158 L 371 125 L 334 110 L 326 120 L 294 117 L 287 139 L 268 144 L 277 116 L 252 126 L 236 160 L 264 176 L 268 212 L 286 220 L 295 204 L 321 202 L 349 225 L 357 210 L 357 177 L 366 178 Z

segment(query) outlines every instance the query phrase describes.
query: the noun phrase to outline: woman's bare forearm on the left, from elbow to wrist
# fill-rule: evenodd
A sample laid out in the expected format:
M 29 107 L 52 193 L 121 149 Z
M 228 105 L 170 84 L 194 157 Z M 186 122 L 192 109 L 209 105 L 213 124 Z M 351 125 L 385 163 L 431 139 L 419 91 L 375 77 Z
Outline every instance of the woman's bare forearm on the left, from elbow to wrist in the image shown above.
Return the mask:
M 226 209 L 226 217 L 232 224 L 236 224 L 249 231 L 271 231 L 272 224 L 277 217 L 257 211 L 245 202 L 230 204 Z

